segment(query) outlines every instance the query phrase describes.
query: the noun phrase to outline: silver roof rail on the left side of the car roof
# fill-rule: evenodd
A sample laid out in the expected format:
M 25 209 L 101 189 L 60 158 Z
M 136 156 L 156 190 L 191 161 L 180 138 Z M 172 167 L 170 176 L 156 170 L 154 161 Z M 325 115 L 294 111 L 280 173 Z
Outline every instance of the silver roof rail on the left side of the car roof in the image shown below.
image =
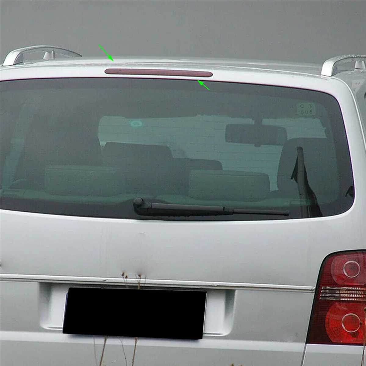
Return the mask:
M 60 55 L 66 56 L 66 57 L 82 57 L 79 53 L 76 53 L 74 51 L 70 51 L 66 48 L 61 47 L 55 47 L 55 46 L 46 46 L 46 45 L 38 45 L 38 46 L 29 46 L 24 48 L 18 48 L 14 51 L 10 51 L 3 62 L 3 66 L 12 66 L 21 64 L 23 62 L 23 55 L 25 53 L 34 53 L 43 51 L 43 59 L 44 60 L 53 60 L 56 57 L 56 52 Z

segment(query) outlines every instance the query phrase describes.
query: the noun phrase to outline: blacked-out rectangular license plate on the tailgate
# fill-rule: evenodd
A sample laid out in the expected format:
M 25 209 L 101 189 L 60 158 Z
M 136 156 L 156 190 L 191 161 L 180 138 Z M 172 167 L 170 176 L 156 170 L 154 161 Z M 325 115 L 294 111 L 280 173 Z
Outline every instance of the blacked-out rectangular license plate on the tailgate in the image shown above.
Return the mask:
M 206 291 L 71 287 L 63 333 L 202 339 Z

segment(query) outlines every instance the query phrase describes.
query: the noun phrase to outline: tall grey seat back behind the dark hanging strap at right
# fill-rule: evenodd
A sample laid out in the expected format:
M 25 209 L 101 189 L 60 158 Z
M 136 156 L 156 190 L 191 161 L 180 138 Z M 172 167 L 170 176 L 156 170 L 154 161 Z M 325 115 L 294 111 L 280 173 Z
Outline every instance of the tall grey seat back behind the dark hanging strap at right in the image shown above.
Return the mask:
M 277 174 L 279 190 L 288 197 L 298 197 L 297 184 L 291 180 L 298 146 L 303 148 L 307 178 L 315 195 L 325 195 L 326 200 L 336 199 L 339 193 L 337 161 L 334 147 L 326 138 L 293 138 L 284 144 Z

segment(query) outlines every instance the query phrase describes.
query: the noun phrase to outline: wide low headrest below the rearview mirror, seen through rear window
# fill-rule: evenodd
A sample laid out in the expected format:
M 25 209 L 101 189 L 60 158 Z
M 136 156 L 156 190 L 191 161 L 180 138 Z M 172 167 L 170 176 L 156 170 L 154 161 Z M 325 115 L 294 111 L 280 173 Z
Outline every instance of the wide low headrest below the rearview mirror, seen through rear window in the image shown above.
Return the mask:
M 189 196 L 219 201 L 261 201 L 270 191 L 265 173 L 229 170 L 192 170 Z

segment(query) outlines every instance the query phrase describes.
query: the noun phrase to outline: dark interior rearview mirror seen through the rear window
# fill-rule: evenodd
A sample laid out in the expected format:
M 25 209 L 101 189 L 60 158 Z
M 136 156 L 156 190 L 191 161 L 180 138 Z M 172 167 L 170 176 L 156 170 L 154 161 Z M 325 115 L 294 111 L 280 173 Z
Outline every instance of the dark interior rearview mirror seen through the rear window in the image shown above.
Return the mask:
M 254 146 L 284 145 L 287 132 L 284 127 L 256 124 L 228 124 L 225 129 L 225 141 L 247 143 Z

